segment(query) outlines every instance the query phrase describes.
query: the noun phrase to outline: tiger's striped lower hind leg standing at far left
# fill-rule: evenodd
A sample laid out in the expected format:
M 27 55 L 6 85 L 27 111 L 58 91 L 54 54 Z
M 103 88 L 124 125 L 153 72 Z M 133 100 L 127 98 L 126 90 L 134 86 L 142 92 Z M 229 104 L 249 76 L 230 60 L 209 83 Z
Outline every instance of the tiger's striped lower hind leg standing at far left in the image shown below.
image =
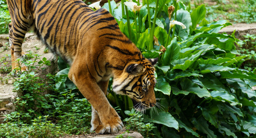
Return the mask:
M 22 27 L 20 27 L 22 26 Z M 21 49 L 22 42 L 25 38 L 25 34 L 28 30 L 28 24 L 27 23 L 15 23 L 15 21 L 12 21 L 12 23 L 9 24 L 9 44 L 11 47 L 11 59 L 12 59 L 12 70 L 15 68 L 21 66 L 17 62 L 17 58 L 24 58 L 25 53 Z M 21 72 L 28 71 L 28 68 L 26 66 L 21 66 Z

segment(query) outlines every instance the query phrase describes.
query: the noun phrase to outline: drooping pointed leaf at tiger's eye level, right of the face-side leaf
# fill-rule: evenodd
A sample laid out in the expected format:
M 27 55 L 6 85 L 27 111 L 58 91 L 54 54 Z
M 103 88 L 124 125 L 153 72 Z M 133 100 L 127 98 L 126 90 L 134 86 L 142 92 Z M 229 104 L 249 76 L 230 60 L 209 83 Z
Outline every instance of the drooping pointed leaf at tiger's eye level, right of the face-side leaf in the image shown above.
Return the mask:
M 211 94 L 205 88 L 200 88 L 197 84 L 193 83 L 187 78 L 182 78 L 180 82 L 182 90 L 188 91 L 190 93 L 196 94 L 198 97 L 210 97 Z

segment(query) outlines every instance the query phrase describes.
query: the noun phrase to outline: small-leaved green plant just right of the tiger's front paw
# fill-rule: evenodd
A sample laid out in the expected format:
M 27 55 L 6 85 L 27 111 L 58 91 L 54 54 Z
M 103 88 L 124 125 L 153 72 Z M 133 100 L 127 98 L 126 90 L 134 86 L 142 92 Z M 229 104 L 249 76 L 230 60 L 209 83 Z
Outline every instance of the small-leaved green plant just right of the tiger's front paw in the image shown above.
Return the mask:
M 131 111 L 127 110 L 125 111 L 125 113 L 130 116 L 129 118 L 124 119 L 124 122 L 126 122 L 125 126 L 128 134 L 129 134 L 129 130 L 134 130 L 141 133 L 142 136 L 144 136 L 144 138 L 149 138 L 149 136 L 154 135 L 153 133 L 151 133 L 153 128 L 155 128 L 154 124 L 153 123 L 145 124 L 144 122 L 142 122 L 143 114 L 139 114 L 138 112 L 135 112 L 134 109 L 132 109 Z

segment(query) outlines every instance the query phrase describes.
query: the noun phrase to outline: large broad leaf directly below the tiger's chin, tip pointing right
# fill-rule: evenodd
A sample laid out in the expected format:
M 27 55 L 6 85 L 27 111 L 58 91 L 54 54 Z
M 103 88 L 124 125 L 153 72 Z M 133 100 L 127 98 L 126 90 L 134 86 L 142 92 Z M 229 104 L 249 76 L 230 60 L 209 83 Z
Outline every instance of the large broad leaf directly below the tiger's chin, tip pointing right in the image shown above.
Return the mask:
M 153 112 L 151 113 L 151 118 L 144 118 L 144 121 L 163 124 L 178 130 L 178 122 L 175 120 L 174 117 L 172 117 L 169 112 Z

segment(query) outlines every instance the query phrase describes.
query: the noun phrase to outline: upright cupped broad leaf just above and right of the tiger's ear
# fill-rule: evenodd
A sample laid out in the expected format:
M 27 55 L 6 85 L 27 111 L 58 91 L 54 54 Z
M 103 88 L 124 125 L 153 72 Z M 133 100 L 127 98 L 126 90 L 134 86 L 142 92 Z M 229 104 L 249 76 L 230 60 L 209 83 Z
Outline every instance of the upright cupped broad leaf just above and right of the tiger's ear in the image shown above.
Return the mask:
M 162 66 L 169 66 L 170 62 L 178 59 L 180 56 L 180 46 L 177 43 L 177 38 L 173 38 L 171 44 L 166 47 L 166 51 L 162 56 Z

